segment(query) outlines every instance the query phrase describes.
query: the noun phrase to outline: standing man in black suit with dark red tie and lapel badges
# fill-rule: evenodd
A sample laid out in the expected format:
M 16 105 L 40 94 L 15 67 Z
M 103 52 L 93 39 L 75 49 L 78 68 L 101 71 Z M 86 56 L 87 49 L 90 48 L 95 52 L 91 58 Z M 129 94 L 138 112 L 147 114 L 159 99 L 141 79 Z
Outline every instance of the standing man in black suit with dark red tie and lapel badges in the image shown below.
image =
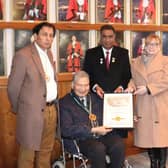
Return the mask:
M 83 69 L 90 76 L 91 90 L 101 98 L 104 93 L 121 93 L 131 78 L 128 50 L 115 45 L 115 36 L 111 25 L 103 25 L 100 45 L 88 49 L 85 55 Z M 124 129 L 116 132 L 122 137 L 127 136 Z

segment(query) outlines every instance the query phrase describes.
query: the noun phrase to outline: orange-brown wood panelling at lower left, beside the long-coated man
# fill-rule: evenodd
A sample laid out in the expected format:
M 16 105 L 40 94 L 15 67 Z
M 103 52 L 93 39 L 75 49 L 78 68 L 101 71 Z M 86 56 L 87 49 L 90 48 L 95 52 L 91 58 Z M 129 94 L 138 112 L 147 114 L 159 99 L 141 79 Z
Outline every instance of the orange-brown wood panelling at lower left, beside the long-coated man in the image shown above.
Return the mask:
M 15 139 L 15 115 L 7 97 L 7 79 L 0 78 L 0 158 L 2 167 L 16 166 L 18 146 Z

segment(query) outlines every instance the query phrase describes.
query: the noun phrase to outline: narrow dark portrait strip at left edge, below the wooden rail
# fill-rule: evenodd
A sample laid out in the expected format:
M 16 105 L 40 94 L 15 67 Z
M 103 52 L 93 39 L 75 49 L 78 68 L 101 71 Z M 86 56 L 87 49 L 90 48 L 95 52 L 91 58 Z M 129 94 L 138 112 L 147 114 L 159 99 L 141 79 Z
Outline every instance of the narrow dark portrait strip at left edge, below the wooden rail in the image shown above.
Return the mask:
M 3 30 L 0 30 L 0 75 L 4 75 Z

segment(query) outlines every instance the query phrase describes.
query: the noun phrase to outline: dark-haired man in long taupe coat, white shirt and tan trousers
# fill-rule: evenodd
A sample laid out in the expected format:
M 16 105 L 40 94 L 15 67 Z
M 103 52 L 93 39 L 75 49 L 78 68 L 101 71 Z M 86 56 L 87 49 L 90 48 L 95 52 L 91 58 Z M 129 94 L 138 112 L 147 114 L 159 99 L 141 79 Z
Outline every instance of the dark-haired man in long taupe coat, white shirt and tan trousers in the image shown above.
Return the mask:
M 56 72 L 50 51 L 55 27 L 33 28 L 34 42 L 16 52 L 8 79 L 8 96 L 16 113 L 18 168 L 49 168 L 57 111 Z

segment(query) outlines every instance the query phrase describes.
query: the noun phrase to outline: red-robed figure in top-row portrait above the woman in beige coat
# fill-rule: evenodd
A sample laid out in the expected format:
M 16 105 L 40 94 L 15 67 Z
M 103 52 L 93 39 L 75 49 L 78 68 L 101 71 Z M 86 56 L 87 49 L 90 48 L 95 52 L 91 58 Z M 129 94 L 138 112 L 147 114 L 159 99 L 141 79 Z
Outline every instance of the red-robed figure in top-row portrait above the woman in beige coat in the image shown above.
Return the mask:
M 154 0 L 140 0 L 136 11 L 137 23 L 155 23 L 156 11 Z

